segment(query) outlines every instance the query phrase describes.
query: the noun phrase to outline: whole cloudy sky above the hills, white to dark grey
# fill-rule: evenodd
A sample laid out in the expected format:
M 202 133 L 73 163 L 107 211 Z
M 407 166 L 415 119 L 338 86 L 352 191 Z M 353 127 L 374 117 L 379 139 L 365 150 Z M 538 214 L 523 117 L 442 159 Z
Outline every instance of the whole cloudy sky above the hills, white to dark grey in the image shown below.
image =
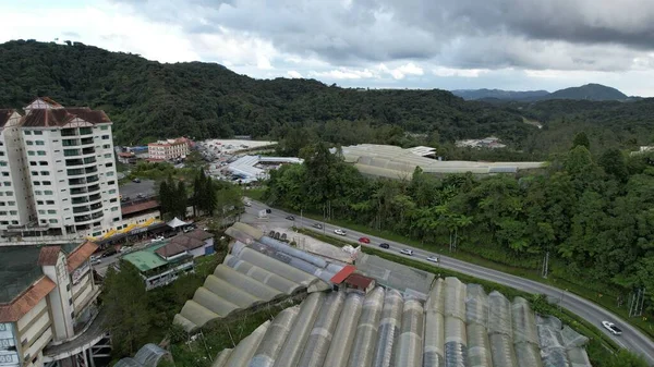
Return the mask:
M 652 0 L 0 0 L 0 41 L 58 38 L 160 62 L 341 86 L 654 96 Z

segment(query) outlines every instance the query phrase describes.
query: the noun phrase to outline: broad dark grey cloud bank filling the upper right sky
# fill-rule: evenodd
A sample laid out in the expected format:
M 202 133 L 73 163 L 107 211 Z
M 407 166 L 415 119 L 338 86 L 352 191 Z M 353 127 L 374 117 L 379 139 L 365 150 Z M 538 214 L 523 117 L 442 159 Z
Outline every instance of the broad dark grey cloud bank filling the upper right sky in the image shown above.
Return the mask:
M 230 29 L 349 66 L 628 70 L 654 50 L 651 0 L 120 1 L 190 35 Z

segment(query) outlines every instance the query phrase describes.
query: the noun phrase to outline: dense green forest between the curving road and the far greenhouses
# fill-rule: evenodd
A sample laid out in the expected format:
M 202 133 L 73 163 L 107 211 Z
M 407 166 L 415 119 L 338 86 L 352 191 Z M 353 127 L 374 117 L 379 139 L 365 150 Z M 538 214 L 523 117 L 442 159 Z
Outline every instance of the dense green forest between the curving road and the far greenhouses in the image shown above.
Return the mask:
M 588 138 L 576 143 L 538 175 L 437 179 L 416 169 L 410 181 L 364 178 L 317 144 L 302 150 L 304 164 L 272 172 L 265 198 L 435 252 L 526 269 L 540 269 L 549 253 L 554 277 L 607 295 L 654 289 L 654 160 L 613 148 L 592 156 Z

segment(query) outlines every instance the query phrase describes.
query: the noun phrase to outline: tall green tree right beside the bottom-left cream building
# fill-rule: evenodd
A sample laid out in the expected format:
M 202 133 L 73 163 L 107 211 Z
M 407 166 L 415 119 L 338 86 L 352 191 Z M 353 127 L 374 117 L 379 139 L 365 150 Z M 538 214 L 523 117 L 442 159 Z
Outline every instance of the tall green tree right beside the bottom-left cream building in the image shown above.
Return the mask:
M 145 343 L 149 330 L 148 299 L 138 269 L 120 261 L 120 271 L 107 270 L 102 290 L 105 327 L 111 333 L 117 357 L 134 355 Z

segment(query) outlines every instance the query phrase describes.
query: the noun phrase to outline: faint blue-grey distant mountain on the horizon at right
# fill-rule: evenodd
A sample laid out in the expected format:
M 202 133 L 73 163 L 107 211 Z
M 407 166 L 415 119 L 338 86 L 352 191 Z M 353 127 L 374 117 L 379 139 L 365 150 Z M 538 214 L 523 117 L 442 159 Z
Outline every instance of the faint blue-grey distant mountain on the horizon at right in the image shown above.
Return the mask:
M 620 90 L 602 84 L 586 84 L 580 87 L 565 88 L 549 93 L 547 90 L 501 90 L 501 89 L 458 89 L 452 90 L 455 96 L 467 100 L 484 100 L 500 102 L 505 100 L 535 101 L 547 99 L 578 99 L 578 100 L 631 100 L 638 97 L 628 97 Z

